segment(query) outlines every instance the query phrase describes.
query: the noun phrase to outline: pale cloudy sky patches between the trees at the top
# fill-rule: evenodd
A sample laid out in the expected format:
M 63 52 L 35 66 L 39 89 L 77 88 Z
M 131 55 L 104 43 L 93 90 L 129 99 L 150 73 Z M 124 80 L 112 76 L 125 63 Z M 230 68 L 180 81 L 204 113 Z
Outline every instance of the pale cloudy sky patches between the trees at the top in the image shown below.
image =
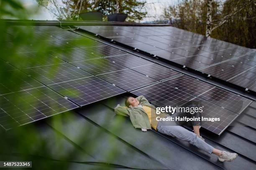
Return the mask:
M 23 6 L 28 9 L 33 9 L 38 6 L 36 0 L 21 0 Z M 148 11 L 148 16 L 144 18 L 141 22 L 154 21 L 162 15 L 163 7 L 170 4 L 175 4 L 179 0 L 146 0 L 146 9 Z M 154 3 L 154 4 L 153 4 Z M 31 16 L 31 20 L 56 20 L 56 18 L 44 7 L 40 7 L 37 14 Z

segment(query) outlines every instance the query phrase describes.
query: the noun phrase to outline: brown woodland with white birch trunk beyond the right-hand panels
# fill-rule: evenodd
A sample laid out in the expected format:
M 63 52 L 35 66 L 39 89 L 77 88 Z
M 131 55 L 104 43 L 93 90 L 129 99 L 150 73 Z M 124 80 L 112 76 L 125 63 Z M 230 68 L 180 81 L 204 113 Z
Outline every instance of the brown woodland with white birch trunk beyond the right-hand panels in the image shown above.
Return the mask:
M 164 17 L 174 27 L 256 48 L 255 0 L 182 0 Z

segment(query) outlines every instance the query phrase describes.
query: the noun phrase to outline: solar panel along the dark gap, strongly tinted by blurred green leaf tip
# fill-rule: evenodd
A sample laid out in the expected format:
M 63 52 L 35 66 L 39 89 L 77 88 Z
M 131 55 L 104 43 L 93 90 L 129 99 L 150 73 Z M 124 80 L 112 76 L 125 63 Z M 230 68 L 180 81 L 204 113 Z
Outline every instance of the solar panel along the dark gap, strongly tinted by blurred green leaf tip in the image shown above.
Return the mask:
M 84 47 L 98 47 L 98 46 L 104 46 L 105 44 L 98 42 L 96 40 L 92 40 L 90 38 L 80 38 L 80 39 L 73 39 L 73 40 L 62 40 L 63 42 L 79 47 L 79 48 L 84 48 Z

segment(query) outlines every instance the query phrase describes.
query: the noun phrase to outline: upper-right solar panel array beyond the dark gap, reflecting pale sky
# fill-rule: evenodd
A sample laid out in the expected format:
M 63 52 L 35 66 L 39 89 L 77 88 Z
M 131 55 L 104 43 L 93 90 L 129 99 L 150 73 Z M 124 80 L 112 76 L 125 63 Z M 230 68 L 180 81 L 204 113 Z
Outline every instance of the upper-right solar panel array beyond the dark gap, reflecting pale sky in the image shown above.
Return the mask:
M 255 50 L 174 27 L 77 27 L 256 91 L 255 79 L 244 77 L 256 74 Z

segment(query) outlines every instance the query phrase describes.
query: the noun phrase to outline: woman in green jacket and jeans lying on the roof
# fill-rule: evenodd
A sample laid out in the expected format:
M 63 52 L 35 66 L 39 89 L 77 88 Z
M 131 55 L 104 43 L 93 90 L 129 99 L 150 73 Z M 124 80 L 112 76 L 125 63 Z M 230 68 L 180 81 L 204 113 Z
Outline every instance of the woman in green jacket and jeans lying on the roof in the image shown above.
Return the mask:
M 187 107 L 197 107 L 197 105 L 190 104 Z M 152 127 L 160 133 L 187 141 L 207 153 L 218 155 L 218 160 L 220 162 L 231 162 L 238 156 L 237 153 L 221 151 L 207 144 L 202 136 L 200 136 L 200 123 L 198 122 L 194 122 L 194 124 L 192 124 L 194 129 L 193 133 L 180 126 L 180 123 L 174 121 L 163 121 L 163 119 L 161 119 L 161 121 L 156 121 L 156 116 L 160 116 L 161 118 L 166 117 L 167 119 L 169 118 L 169 120 L 171 116 L 166 113 L 156 115 L 156 107 L 151 105 L 143 96 L 139 96 L 137 98 L 128 97 L 125 100 L 125 106 L 118 105 L 115 107 L 115 113 L 118 115 L 129 116 L 133 126 L 135 128 L 140 128 L 142 131 L 147 131 Z

